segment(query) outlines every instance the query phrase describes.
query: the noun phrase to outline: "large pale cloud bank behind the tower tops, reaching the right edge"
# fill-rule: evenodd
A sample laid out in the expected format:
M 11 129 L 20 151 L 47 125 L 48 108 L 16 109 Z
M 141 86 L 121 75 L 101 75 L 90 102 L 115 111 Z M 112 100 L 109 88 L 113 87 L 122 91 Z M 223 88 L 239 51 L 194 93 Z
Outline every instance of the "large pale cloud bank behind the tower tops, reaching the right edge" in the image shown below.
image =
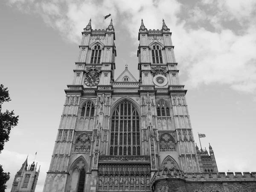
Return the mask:
M 256 91 L 254 0 L 202 0 L 194 4 L 177 0 L 7 2 L 23 12 L 29 9 L 26 13 L 41 15 L 65 41 L 76 44 L 90 17 L 93 28 L 101 29 L 103 15 L 111 13 L 114 25 L 119 23 L 133 44 L 138 44 L 142 17 L 147 29 L 161 29 L 164 18 L 173 32 L 176 60 L 181 74 L 187 76 L 186 85 L 197 88 L 218 83 L 244 93 Z

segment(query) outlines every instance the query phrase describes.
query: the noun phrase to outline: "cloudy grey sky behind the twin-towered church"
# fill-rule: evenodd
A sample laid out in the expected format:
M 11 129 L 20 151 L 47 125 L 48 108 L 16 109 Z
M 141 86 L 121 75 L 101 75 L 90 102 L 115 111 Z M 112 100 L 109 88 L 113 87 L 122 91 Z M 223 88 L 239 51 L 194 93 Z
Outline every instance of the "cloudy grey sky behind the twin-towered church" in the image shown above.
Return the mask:
M 115 79 L 125 69 L 138 79 L 141 18 L 147 29 L 172 32 L 180 82 L 185 84 L 195 142 L 206 134 L 219 172 L 256 172 L 256 1 L 255 0 L 2 0 L 0 84 L 11 102 L 3 110 L 19 115 L 0 164 L 10 172 L 7 192 L 29 154 L 41 165 L 42 192 L 65 100 L 79 55 L 81 32 L 116 33 Z

